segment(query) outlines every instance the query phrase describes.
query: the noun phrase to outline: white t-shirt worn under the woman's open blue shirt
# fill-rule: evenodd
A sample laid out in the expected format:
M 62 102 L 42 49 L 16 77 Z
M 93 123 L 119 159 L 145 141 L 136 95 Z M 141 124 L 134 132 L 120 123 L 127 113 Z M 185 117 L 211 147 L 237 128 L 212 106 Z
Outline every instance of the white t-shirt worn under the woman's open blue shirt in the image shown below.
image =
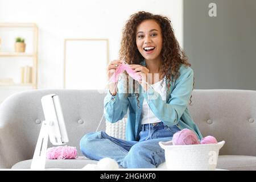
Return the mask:
M 163 86 L 162 86 L 162 80 L 156 82 L 155 84 L 150 84 L 152 86 L 152 88 L 154 88 L 154 90 L 156 92 L 158 92 L 160 94 L 160 96 L 162 97 L 163 101 L 166 101 L 166 82 L 163 82 Z M 142 122 L 141 124 L 148 124 L 148 123 L 158 123 L 161 122 L 158 118 L 156 118 L 155 114 L 151 111 L 150 107 L 148 107 L 147 104 L 147 100 L 146 98 L 143 101 L 143 105 L 142 105 Z

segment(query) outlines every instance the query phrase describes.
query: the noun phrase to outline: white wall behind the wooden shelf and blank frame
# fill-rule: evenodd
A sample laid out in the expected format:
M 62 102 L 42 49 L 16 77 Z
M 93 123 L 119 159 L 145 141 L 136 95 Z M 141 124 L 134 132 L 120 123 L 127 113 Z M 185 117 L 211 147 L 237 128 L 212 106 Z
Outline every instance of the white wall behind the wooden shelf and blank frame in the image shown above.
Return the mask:
M 183 0 L 0 0 L 0 22 L 38 24 L 38 88 L 63 88 L 64 39 L 109 39 L 109 59 L 117 59 L 122 27 L 139 10 L 171 18 L 183 47 Z

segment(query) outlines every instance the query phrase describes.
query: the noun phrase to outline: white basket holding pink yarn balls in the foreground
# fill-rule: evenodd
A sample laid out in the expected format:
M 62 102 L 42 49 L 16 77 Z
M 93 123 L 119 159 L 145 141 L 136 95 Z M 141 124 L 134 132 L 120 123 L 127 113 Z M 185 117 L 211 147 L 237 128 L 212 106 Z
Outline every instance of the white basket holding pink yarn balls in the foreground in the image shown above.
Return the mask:
M 218 151 L 225 141 L 211 144 L 172 145 L 159 142 L 164 149 L 168 170 L 212 171 L 216 169 Z

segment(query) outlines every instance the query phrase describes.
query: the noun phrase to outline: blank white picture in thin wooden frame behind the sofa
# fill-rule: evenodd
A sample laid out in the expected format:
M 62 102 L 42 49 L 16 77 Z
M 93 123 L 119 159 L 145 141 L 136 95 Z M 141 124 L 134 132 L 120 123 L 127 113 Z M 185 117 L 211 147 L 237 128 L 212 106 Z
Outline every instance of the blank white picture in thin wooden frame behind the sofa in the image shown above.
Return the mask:
M 108 39 L 64 40 L 64 89 L 104 89 Z

